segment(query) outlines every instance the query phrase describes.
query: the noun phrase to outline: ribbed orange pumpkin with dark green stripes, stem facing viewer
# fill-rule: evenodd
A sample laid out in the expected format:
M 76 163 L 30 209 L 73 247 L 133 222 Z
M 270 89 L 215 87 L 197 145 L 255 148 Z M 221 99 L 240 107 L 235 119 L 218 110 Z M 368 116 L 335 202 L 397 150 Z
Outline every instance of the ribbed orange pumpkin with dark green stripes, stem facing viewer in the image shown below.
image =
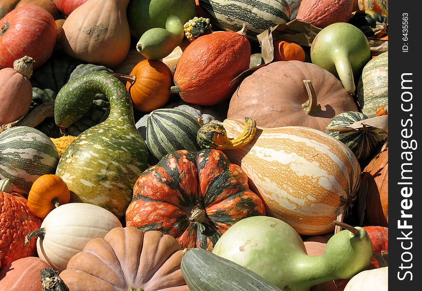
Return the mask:
M 126 225 L 169 234 L 182 249 L 211 251 L 229 226 L 257 215 L 265 215 L 261 198 L 222 151 L 178 150 L 138 178 Z

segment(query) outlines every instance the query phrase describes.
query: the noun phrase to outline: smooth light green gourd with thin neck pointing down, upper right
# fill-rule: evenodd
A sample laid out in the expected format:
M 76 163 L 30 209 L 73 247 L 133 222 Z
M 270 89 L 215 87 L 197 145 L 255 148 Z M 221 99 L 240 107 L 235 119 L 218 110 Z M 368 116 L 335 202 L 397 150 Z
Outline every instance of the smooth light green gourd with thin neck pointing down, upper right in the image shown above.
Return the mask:
M 310 47 L 312 64 L 331 72 L 350 94 L 356 90 L 355 78 L 371 58 L 365 34 L 356 26 L 337 22 L 318 32 Z

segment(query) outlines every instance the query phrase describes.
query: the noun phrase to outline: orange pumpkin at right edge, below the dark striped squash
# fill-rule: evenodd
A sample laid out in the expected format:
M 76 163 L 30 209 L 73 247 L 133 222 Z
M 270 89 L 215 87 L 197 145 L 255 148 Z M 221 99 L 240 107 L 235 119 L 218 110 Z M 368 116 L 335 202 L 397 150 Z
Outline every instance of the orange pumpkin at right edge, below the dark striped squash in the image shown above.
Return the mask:
M 371 226 L 388 227 L 389 219 L 388 146 L 378 153 L 362 171 L 361 184 L 366 188 L 364 222 Z

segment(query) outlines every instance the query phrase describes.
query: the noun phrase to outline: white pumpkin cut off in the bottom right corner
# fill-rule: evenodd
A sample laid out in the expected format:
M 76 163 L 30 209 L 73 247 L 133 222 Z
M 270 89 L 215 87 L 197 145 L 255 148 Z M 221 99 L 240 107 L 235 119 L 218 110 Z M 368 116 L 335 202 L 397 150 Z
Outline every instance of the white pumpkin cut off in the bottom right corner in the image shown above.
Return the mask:
M 347 282 L 344 291 L 388 291 L 389 290 L 389 267 L 365 270 L 354 275 Z

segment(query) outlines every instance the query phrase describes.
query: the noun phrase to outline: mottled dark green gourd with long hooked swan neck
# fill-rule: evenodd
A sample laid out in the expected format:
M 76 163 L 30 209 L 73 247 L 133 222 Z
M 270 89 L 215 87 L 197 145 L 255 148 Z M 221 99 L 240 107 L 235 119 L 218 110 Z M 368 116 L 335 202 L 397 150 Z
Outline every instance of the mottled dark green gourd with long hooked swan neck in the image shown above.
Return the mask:
M 66 182 L 71 202 L 91 203 L 121 218 L 136 179 L 149 166 L 149 152 L 135 127 L 131 99 L 123 83 L 102 72 L 69 81 L 57 94 L 54 119 L 64 130 L 89 110 L 98 92 L 110 101 L 109 116 L 67 147 L 56 175 Z

